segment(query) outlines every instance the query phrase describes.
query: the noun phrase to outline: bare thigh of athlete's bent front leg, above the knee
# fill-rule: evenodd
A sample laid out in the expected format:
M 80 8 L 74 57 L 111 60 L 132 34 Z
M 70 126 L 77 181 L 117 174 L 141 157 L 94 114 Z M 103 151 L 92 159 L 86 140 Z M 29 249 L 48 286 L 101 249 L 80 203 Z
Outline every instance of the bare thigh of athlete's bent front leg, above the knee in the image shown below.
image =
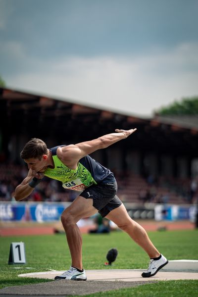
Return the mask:
M 71 215 L 76 220 L 90 217 L 98 210 L 93 206 L 93 199 L 77 197 L 62 213 L 62 215 Z

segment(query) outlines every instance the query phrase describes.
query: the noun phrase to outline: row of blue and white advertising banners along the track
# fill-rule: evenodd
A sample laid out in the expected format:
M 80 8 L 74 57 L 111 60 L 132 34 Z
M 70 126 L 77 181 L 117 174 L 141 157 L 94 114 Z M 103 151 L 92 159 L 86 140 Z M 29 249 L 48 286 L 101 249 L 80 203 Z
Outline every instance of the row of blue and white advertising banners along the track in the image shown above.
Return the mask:
M 0 221 L 58 221 L 63 210 L 71 202 L 0 202 Z M 126 205 L 133 219 L 191 220 L 195 221 L 197 208 L 194 205 L 156 204 L 153 207 Z

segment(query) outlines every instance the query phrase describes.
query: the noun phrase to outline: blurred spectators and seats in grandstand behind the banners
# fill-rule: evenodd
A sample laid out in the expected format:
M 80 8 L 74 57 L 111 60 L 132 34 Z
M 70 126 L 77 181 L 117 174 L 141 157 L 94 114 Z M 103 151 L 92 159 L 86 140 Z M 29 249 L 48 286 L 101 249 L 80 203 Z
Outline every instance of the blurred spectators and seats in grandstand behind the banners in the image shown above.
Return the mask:
M 15 201 L 14 190 L 27 176 L 24 165 L 0 165 L 0 200 Z M 198 199 L 198 177 L 175 179 L 156 178 L 152 175 L 137 176 L 125 172 L 115 173 L 118 182 L 118 196 L 123 202 L 194 203 Z M 61 182 L 44 177 L 35 191 L 23 201 L 73 201 L 78 192 L 65 190 Z

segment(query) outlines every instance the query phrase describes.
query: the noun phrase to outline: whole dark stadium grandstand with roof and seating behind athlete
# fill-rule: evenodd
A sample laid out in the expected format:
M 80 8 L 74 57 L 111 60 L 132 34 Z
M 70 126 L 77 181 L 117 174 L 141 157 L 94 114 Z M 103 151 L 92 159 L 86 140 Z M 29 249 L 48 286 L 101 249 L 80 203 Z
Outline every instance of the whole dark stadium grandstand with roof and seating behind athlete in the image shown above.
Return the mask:
M 26 176 L 20 151 L 29 139 L 41 138 L 50 148 L 95 139 L 116 128 L 137 128 L 137 132 L 92 156 L 115 173 L 123 202 L 194 202 L 198 195 L 197 121 L 140 118 L 133 116 L 133 110 L 122 114 L 7 88 L 0 88 L 0 200 L 14 199 L 15 186 Z M 75 192 L 44 178 L 26 200 L 74 198 Z

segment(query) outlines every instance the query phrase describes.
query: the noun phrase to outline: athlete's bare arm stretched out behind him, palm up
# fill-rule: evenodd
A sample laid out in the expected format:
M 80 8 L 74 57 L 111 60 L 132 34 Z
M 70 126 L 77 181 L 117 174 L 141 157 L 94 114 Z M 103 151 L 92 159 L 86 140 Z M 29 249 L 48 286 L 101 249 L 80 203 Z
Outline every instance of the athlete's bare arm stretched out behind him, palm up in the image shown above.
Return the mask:
M 67 165 L 73 164 L 78 162 L 82 157 L 98 149 L 107 148 L 112 144 L 127 138 L 136 130 L 136 128 L 130 130 L 115 129 L 116 133 L 106 134 L 91 141 L 63 147 L 58 151 L 58 157 L 60 157 L 62 162 Z

